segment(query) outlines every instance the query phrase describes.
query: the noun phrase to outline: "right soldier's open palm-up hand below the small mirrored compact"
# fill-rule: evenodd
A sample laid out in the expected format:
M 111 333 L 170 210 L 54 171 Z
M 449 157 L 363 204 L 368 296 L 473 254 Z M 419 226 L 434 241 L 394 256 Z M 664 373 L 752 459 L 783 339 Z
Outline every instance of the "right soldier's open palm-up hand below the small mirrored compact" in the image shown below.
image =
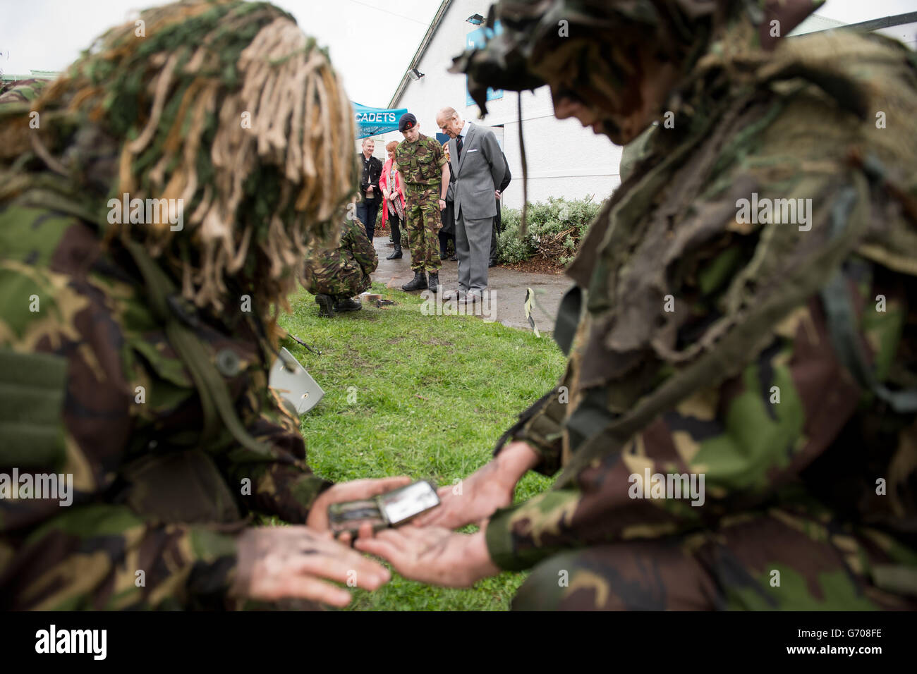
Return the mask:
M 467 588 L 500 573 L 482 531 L 469 536 L 436 527 L 403 526 L 371 538 L 361 536 L 354 546 L 387 559 L 405 578 L 450 588 Z

